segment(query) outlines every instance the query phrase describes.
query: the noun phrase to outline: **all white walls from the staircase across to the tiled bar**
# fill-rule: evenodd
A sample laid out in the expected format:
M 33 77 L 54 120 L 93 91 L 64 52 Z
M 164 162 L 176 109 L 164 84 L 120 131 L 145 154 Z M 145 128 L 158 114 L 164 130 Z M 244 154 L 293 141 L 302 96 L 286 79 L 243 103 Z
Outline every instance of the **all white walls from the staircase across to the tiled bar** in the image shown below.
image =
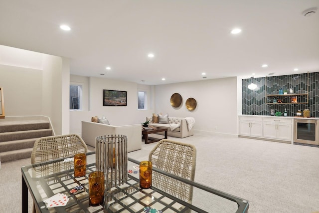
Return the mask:
M 68 59 L 44 54 L 42 61 L 38 61 L 39 55 L 34 57 L 33 66 L 42 66 L 42 70 L 19 67 L 24 66 L 23 61 L 18 66 L 3 65 L 3 57 L 0 61 L 3 63 L 0 65 L 0 87 L 4 90 L 6 116 L 48 116 L 55 134 L 59 135 L 81 134 L 81 121 L 90 121 L 95 115 L 106 116 L 114 125 L 127 125 L 142 123 L 154 112 L 168 112 L 174 117 L 194 117 L 195 130 L 237 134 L 240 81 L 237 82 L 236 77 L 147 86 L 121 80 L 70 76 Z M 81 111 L 69 110 L 70 82 L 83 84 Z M 128 106 L 103 106 L 103 89 L 127 91 Z M 148 94 L 147 110 L 137 109 L 138 90 Z M 178 109 L 170 105 L 170 96 L 175 92 L 183 97 Z M 189 97 L 197 101 L 196 109 L 191 112 L 185 108 Z

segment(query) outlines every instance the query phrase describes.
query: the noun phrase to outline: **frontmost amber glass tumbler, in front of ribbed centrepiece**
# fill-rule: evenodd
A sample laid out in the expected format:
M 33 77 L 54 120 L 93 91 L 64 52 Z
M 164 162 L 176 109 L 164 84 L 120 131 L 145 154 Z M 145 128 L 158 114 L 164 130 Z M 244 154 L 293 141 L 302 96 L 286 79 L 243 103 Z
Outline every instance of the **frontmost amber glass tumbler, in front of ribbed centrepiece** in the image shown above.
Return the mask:
M 89 174 L 89 204 L 98 206 L 104 202 L 104 172 Z

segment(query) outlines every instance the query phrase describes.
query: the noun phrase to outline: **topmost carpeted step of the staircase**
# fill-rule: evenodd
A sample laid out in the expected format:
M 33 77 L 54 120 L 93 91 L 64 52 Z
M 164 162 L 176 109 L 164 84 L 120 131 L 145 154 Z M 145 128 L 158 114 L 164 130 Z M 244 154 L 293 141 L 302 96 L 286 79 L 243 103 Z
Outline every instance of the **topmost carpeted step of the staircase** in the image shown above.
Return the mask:
M 50 123 L 45 120 L 1 121 L 0 133 L 17 132 L 35 129 L 48 129 Z

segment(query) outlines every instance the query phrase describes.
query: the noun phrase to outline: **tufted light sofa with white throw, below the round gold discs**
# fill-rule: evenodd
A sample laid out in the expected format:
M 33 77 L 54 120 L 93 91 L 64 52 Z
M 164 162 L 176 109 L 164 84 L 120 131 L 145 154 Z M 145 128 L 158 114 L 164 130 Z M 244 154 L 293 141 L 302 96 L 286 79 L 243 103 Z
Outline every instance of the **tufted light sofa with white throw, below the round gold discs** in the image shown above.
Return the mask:
M 185 137 L 194 135 L 193 128 L 188 130 L 187 122 L 185 118 L 168 117 L 168 124 L 153 123 L 152 117 L 147 117 L 146 119 L 150 121 L 149 126 L 166 127 L 168 136 L 172 136 L 176 138 L 185 138 Z M 180 126 L 174 130 L 171 130 L 171 128 L 173 129 L 176 127 L 174 124 L 179 124 Z M 156 134 L 163 135 L 164 132 L 159 132 Z

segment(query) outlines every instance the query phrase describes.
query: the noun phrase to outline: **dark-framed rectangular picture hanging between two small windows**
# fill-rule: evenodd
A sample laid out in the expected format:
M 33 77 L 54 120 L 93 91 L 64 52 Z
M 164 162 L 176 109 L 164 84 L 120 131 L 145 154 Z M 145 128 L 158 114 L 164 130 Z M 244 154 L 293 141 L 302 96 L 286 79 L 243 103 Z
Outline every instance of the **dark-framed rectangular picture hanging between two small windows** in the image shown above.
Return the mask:
M 103 106 L 127 106 L 127 91 L 103 90 Z

